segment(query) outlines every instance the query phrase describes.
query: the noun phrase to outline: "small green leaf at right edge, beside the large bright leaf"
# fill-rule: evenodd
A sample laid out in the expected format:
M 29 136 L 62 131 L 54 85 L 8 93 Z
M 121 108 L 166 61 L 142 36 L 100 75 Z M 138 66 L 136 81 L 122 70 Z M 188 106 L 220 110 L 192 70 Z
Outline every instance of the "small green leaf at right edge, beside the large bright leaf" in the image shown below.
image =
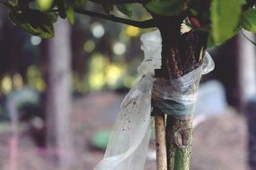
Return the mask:
M 249 9 L 243 13 L 241 25 L 244 30 L 256 32 L 256 9 Z

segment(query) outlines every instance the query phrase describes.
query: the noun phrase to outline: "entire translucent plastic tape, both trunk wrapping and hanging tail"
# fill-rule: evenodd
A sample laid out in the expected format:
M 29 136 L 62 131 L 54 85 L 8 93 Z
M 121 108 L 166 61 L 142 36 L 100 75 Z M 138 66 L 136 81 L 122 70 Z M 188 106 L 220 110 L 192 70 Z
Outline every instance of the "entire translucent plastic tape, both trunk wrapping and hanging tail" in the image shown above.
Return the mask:
M 164 102 L 176 102 L 187 108 L 195 102 L 201 74 L 214 68 L 214 63 L 207 54 L 207 59 L 199 69 L 176 80 L 155 80 L 154 70 L 161 68 L 160 31 L 155 30 L 143 35 L 141 41 L 145 60 L 138 67 L 140 78 L 123 100 L 105 155 L 94 170 L 143 170 L 151 133 L 151 98 L 162 98 Z M 164 87 L 158 86 L 161 81 L 164 81 Z M 164 105 L 164 102 L 161 105 Z M 172 110 L 175 109 L 177 108 Z

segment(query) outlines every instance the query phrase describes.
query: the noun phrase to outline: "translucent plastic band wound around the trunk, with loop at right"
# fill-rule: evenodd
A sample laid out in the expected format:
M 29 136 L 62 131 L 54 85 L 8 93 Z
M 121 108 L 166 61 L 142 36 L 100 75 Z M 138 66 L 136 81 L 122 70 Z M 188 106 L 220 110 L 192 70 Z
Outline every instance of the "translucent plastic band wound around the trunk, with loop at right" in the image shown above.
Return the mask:
M 152 92 L 154 106 L 158 107 L 164 115 L 192 114 L 201 75 L 211 72 L 214 67 L 213 59 L 206 52 L 204 62 L 198 69 L 171 81 L 156 79 Z

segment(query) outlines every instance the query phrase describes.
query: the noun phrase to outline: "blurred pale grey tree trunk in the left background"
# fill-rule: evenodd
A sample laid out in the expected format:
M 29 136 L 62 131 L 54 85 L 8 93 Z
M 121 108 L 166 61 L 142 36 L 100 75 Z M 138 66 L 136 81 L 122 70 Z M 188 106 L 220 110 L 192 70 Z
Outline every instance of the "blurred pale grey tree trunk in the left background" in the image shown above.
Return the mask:
M 70 27 L 56 24 L 55 38 L 49 40 L 46 115 L 49 149 L 57 149 L 61 170 L 72 169 L 74 161 L 71 130 L 71 49 Z

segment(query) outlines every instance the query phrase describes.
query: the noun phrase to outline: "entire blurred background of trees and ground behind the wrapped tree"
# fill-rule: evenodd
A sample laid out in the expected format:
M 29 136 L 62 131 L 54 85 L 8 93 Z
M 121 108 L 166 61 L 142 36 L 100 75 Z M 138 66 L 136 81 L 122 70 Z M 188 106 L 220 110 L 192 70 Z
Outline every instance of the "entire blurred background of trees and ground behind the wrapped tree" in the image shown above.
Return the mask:
M 137 81 L 140 36 L 152 31 L 81 15 L 55 30 L 50 40 L 28 35 L 0 11 L 1 170 L 93 169 Z M 216 69 L 199 88 L 191 169 L 256 169 L 255 46 L 239 34 L 208 52 Z M 154 134 L 146 169 L 155 169 Z

